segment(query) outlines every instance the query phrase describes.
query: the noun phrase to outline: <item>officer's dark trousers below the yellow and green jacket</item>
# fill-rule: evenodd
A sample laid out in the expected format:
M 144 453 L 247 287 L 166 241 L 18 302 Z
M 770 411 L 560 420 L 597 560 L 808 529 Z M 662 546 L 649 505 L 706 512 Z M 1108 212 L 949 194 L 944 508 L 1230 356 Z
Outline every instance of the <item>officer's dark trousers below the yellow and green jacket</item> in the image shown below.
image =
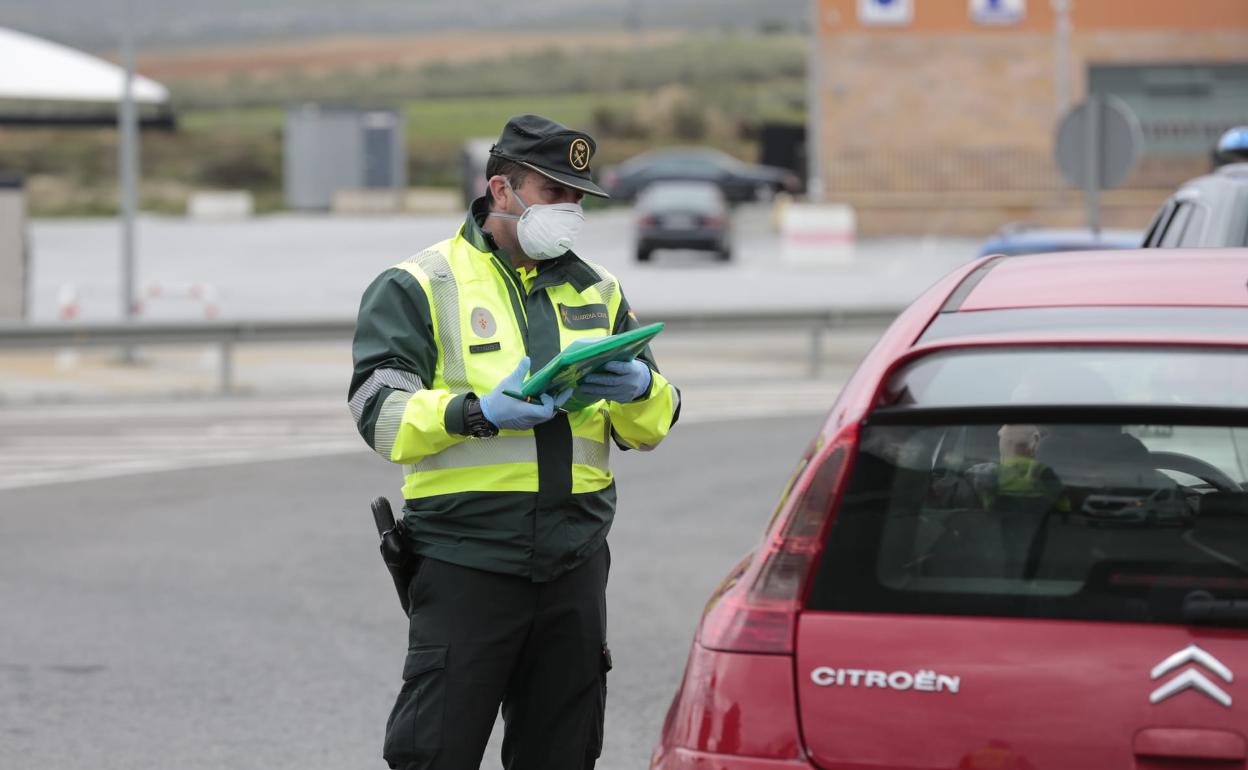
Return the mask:
M 389 766 L 478 770 L 502 706 L 507 770 L 592 769 L 610 669 L 609 567 L 605 545 L 549 583 L 422 559 L 386 725 Z

